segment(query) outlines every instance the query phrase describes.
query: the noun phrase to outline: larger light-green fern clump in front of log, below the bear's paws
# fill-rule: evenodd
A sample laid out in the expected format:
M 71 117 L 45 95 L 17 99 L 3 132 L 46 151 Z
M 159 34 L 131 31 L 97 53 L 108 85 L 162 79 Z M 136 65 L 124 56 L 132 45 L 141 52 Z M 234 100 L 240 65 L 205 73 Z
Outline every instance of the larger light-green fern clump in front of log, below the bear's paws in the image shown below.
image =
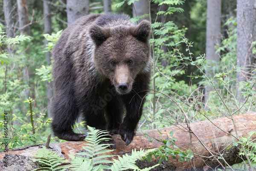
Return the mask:
M 148 154 L 149 151 L 132 151 L 131 156 L 125 154 L 124 156 L 118 156 L 118 160 L 110 160 L 113 155 L 106 154 L 113 150 L 107 149 L 110 144 L 104 144 L 104 141 L 108 141 L 106 138 L 106 131 L 97 130 L 95 128 L 87 127 L 89 130 L 89 136 L 86 137 L 85 141 L 88 143 L 84 146 L 84 152 L 78 154 L 77 157 L 71 156 L 72 159 L 70 169 L 72 171 L 101 171 L 103 169 L 109 169 L 111 171 L 122 171 L 131 168 L 136 171 L 146 171 L 156 167 L 154 165 L 150 168 L 140 169 L 135 165 L 138 159 L 142 159 L 143 156 Z M 103 142 L 103 143 L 101 143 Z M 81 157 L 82 156 L 82 157 Z M 112 166 L 102 165 L 102 163 L 113 163 Z

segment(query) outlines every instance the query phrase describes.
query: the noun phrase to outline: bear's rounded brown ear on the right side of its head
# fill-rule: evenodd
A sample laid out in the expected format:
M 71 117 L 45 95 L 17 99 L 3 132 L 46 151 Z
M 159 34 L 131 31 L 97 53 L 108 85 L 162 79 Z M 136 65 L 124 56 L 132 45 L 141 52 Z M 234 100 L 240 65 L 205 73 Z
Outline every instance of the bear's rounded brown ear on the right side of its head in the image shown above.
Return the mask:
M 131 35 L 139 41 L 146 42 L 149 39 L 151 24 L 148 20 L 143 20 L 138 26 L 131 29 Z

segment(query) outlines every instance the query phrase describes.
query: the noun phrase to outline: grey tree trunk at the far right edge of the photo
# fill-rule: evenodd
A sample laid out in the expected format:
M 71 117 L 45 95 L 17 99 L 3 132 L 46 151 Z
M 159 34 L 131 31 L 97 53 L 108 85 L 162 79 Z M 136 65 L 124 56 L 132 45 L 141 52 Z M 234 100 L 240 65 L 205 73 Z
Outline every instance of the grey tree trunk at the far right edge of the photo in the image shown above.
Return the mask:
M 242 67 L 236 73 L 237 98 L 240 102 L 244 99 L 241 95 L 241 82 L 250 78 L 253 70 L 252 64 L 253 41 L 255 40 L 256 9 L 255 0 L 237 0 L 237 67 Z

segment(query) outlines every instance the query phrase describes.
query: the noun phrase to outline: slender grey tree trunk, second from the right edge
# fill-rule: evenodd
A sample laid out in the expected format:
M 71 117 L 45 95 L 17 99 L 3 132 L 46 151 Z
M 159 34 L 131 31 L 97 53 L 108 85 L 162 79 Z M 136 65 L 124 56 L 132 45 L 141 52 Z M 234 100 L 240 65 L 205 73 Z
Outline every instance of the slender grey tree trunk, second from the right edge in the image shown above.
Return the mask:
M 221 36 L 221 0 L 207 0 L 207 25 L 206 25 L 206 61 L 209 68 L 206 75 L 211 78 L 215 73 L 213 66 L 218 65 L 220 57 L 216 54 L 215 46 L 220 44 Z M 210 85 L 205 87 L 204 99 L 207 102 L 209 92 L 212 91 Z

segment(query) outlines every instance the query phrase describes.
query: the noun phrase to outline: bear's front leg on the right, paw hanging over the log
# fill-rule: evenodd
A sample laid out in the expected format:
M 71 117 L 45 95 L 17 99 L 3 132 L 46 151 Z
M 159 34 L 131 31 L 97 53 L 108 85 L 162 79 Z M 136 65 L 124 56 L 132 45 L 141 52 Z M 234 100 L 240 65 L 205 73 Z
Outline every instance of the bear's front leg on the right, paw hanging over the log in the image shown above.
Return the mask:
M 135 135 L 135 129 L 142 115 L 145 92 L 125 95 L 123 100 L 126 107 L 126 116 L 120 126 L 119 134 L 125 145 L 129 145 Z

